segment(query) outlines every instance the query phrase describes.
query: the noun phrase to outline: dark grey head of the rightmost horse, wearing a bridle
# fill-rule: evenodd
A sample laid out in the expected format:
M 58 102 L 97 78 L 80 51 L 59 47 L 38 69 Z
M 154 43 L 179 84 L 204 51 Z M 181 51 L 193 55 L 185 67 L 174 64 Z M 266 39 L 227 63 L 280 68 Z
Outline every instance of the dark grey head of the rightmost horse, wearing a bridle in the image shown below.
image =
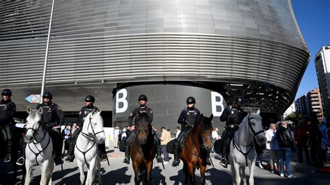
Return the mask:
M 253 134 L 258 145 L 265 145 L 266 136 L 264 130 L 262 129 L 262 118 L 260 116 L 260 110 L 258 110 L 256 113 L 251 113 L 251 111 L 249 111 L 249 114 L 246 117 L 249 126 L 249 133 Z

